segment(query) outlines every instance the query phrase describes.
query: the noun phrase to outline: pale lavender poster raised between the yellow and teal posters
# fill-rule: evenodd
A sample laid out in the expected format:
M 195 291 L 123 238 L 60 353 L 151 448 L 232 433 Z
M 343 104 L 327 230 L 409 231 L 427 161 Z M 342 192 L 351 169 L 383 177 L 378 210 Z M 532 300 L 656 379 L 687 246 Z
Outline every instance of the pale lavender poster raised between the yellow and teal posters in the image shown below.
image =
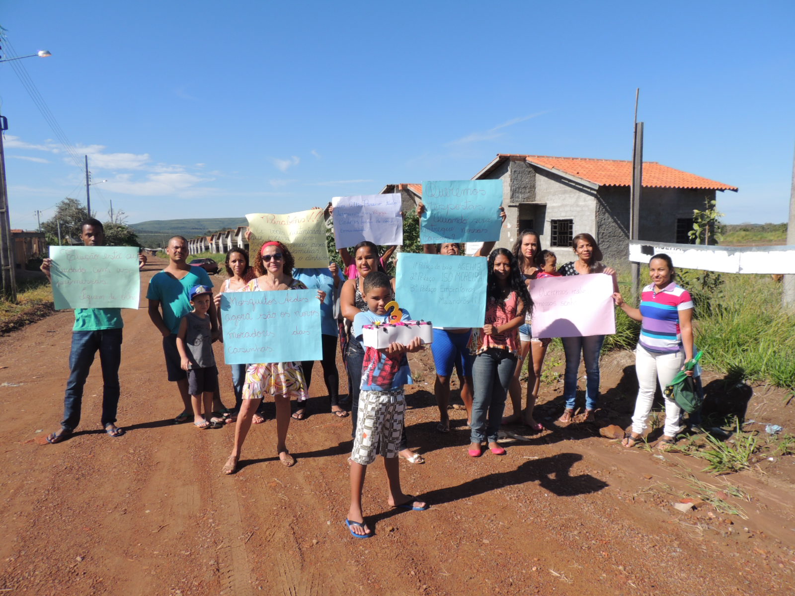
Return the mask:
M 338 249 L 363 240 L 385 246 L 403 244 L 401 195 L 335 196 L 334 240 Z

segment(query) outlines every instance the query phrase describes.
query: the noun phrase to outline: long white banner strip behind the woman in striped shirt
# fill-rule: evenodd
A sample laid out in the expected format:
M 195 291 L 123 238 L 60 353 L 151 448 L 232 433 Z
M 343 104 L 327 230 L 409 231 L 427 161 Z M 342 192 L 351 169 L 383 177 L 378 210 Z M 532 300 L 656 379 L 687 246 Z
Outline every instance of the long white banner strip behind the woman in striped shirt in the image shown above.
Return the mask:
M 648 263 L 665 253 L 674 267 L 720 273 L 795 273 L 795 246 L 700 246 L 665 242 L 630 242 L 630 261 Z

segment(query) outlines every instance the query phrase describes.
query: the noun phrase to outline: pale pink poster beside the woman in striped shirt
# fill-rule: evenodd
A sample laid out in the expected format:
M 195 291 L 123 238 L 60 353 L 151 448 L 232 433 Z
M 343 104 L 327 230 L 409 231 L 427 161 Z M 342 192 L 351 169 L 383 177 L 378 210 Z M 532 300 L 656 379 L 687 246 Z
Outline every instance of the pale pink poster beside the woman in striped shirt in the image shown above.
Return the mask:
M 613 277 L 603 273 L 544 277 L 530 284 L 533 337 L 615 333 Z

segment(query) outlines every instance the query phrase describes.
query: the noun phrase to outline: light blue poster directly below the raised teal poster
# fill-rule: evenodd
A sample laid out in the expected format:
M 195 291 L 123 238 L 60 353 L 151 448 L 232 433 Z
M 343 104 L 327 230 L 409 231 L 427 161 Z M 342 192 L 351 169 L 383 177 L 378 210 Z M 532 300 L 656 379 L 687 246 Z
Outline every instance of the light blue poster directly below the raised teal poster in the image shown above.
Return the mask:
M 400 253 L 397 304 L 434 327 L 483 327 L 487 259 Z

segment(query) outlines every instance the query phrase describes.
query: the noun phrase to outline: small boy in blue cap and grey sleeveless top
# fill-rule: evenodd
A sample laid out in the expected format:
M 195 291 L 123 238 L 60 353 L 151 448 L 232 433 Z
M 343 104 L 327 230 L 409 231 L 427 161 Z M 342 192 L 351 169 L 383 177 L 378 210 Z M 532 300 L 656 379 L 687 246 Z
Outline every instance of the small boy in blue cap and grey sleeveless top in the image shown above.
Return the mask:
M 180 330 L 176 332 L 176 349 L 180 352 L 180 367 L 188 373 L 193 424 L 197 428 L 221 428 L 223 424 L 210 420 L 212 397 L 218 391 L 218 368 L 215 366 L 215 354 L 212 353 L 212 331 L 207 315 L 212 302 L 212 290 L 204 285 L 194 285 L 189 296 L 193 310 L 180 321 Z

